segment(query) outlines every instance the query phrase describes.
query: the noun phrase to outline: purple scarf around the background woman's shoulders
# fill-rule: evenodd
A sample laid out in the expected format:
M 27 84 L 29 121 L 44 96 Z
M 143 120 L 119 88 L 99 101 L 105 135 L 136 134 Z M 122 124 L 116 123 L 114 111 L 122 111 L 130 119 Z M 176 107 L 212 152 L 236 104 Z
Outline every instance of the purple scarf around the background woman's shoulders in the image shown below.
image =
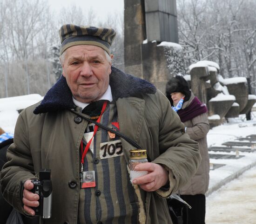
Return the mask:
M 206 112 L 207 107 L 205 104 L 200 102 L 200 100 L 195 96 L 189 106 L 185 109 L 178 110 L 177 114 L 180 116 L 182 122 L 186 122 Z

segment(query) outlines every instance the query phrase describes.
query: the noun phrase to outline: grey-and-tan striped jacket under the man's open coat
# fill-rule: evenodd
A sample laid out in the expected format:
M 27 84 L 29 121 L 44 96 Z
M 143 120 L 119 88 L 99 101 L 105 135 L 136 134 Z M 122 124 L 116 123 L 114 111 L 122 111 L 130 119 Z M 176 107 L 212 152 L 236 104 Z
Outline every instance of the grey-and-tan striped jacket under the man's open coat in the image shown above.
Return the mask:
M 112 128 L 112 122 L 117 122 L 114 103 L 108 104 L 101 117 L 101 123 L 108 127 Z M 96 187 L 80 190 L 79 224 L 95 224 L 100 221 L 109 224 L 138 223 L 137 197 L 129 182 L 124 156 L 100 158 L 101 143 L 117 140 L 118 136 L 110 139 L 108 131 L 102 128 L 94 136 L 94 153 L 88 151 L 84 171 L 95 171 Z M 95 159 L 99 159 L 98 164 L 95 164 Z

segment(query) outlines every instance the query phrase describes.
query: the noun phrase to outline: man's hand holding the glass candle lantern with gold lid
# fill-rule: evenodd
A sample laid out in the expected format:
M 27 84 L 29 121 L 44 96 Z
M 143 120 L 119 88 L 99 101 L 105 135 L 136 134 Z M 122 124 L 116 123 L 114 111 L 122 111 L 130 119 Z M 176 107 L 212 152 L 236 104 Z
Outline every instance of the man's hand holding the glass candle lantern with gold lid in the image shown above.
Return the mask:
M 135 178 L 133 184 L 140 185 L 146 192 L 154 192 L 168 182 L 168 172 L 156 163 L 142 163 L 135 166 L 135 171 L 148 171 L 148 174 Z

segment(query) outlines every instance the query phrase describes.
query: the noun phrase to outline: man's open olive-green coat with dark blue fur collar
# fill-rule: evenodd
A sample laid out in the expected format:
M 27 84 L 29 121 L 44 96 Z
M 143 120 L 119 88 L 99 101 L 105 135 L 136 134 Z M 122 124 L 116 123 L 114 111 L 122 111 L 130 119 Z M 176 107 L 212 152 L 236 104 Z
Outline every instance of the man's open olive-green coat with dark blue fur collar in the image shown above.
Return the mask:
M 184 134 L 184 126 L 168 99 L 151 83 L 112 67 L 110 86 L 120 132 L 147 149 L 148 160 L 170 171 L 169 189 L 156 192 L 139 189 L 137 195 L 143 205 L 138 223 L 169 224 L 165 197 L 184 186 L 196 172 L 201 160 L 198 145 Z M 7 153 L 9 162 L 1 172 L 3 196 L 23 212 L 22 183 L 34 179 L 42 167 L 51 169 L 55 212 L 52 218 L 44 219 L 45 224 L 77 223 L 80 188 L 70 189 L 68 181 L 79 183 L 79 145 L 88 122 L 74 122 L 77 115 L 71 109 L 76 109 L 71 91 L 61 77 L 41 102 L 20 113 L 14 144 Z M 121 141 L 128 162 L 129 150 L 134 147 Z M 63 203 L 63 198 L 68 203 Z

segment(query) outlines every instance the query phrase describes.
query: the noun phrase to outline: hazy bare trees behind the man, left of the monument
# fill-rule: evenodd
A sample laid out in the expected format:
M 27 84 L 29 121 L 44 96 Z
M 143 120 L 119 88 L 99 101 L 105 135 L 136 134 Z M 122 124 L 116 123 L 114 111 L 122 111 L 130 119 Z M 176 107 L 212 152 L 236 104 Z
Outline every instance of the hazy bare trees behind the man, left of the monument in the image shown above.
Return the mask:
M 1 0 L 0 97 L 44 95 L 61 76 L 58 31 L 63 24 L 115 26 L 113 64 L 122 68 L 123 17 L 112 15 L 104 23 L 99 18 L 92 8 L 84 11 L 78 6 L 66 6 L 56 13 L 47 0 Z M 10 82 L 15 88 L 8 86 Z

